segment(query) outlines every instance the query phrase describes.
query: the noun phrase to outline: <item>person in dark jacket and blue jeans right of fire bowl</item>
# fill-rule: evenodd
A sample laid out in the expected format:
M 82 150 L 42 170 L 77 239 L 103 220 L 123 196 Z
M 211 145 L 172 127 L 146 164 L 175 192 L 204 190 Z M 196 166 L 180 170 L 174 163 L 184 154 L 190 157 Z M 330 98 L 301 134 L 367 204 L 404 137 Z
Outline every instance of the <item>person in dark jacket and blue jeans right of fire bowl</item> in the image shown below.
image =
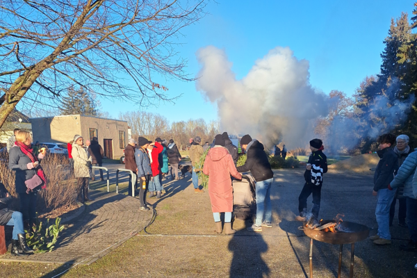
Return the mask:
M 377 208 L 375 215 L 378 223 L 378 234 L 371 236 L 370 240 L 376 245 L 391 244 L 389 232 L 389 210 L 395 197 L 395 190 L 389 190 L 389 184 L 393 181 L 398 171 L 398 156 L 393 151 L 395 135 L 386 133 L 377 140 L 380 160 L 374 174 L 373 195 L 377 196 Z

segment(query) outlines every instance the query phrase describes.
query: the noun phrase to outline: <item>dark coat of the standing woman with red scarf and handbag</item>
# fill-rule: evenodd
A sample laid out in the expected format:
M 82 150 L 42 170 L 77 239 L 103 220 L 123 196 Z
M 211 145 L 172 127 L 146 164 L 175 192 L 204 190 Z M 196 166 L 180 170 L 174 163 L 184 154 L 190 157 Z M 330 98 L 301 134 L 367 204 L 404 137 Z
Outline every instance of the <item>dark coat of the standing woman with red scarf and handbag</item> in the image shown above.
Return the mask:
M 36 174 L 35 169 L 28 170 L 28 163 L 31 163 L 31 158 L 26 156 L 20 147 L 13 146 L 9 152 L 9 168 L 16 171 L 15 187 L 17 193 L 26 193 L 26 184 L 24 181 L 32 179 Z

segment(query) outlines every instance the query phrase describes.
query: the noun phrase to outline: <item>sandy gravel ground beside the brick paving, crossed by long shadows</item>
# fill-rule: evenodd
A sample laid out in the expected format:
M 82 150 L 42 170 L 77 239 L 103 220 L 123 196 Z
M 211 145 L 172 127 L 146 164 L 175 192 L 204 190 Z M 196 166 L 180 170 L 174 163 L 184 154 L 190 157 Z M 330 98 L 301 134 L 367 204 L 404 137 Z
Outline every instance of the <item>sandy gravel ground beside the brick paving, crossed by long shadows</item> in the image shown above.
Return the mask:
M 164 181 L 167 195 L 149 199 L 156 219 L 138 236 L 92 265 L 77 266 L 64 277 L 308 277 L 309 238 L 294 220 L 304 184 L 302 170 L 276 170 L 272 184 L 272 228 L 245 231 L 249 221 L 236 220 L 234 236 L 217 235 L 208 193 L 194 193 L 190 174 Z M 376 233 L 373 178 L 369 175 L 326 174 L 320 218 L 343 213 L 346 221 L 366 224 Z M 311 208 L 311 197 L 309 199 Z M 354 277 L 417 277 L 417 253 L 402 252 L 408 231 L 391 228 L 393 244 L 355 245 Z M 314 242 L 314 277 L 336 277 L 338 245 Z M 53 277 L 65 265 L 0 264 L 6 277 Z M 344 246 L 342 277 L 349 275 L 350 245 Z M 58 270 L 53 271 L 58 268 Z

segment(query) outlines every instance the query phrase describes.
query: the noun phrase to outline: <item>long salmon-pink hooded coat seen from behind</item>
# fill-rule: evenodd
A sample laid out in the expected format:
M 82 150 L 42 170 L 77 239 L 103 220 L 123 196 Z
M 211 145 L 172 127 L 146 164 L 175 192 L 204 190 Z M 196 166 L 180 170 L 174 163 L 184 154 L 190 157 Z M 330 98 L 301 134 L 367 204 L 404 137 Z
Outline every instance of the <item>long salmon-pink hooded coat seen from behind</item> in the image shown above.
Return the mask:
M 233 211 L 233 187 L 230 175 L 242 179 L 226 148 L 215 146 L 208 151 L 203 167 L 208 175 L 208 195 L 213 213 Z

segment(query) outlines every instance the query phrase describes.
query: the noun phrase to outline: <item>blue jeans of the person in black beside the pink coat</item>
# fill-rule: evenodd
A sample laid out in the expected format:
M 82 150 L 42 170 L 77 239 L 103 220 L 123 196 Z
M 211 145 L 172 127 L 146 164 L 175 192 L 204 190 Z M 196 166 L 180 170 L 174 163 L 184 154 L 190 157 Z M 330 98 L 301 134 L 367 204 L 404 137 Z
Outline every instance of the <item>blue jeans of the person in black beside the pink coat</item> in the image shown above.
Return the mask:
M 265 222 L 270 222 L 272 219 L 271 206 L 271 186 L 274 179 L 267 179 L 266 181 L 256 182 L 256 221 L 255 224 L 261 226 L 263 214 L 265 213 Z

